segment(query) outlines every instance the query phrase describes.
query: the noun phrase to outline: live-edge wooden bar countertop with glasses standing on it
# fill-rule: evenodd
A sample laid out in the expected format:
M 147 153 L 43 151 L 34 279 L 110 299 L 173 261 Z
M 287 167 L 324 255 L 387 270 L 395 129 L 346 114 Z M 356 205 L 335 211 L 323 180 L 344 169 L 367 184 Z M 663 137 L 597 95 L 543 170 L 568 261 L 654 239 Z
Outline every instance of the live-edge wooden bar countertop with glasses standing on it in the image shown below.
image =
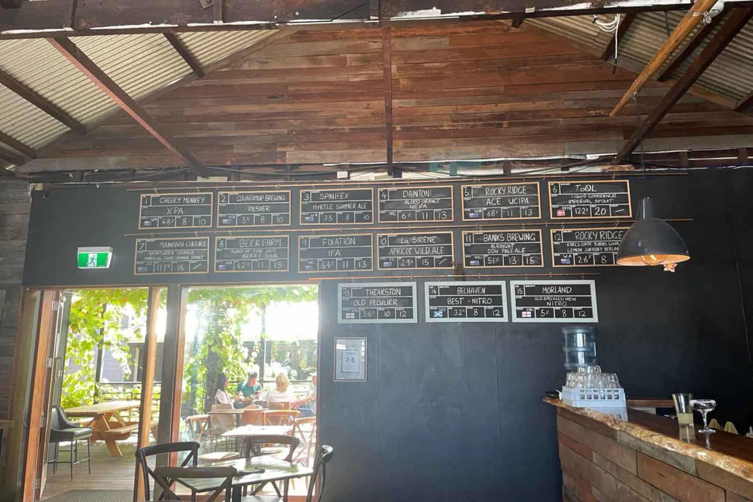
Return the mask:
M 544 397 L 544 403 L 597 421 L 603 424 L 602 427 L 606 426 L 616 431 L 617 435 L 626 434 L 651 446 L 706 462 L 748 482 L 753 482 L 753 438 L 724 431 L 717 431 L 716 434 L 700 434 L 697 432 L 699 424 L 694 425 L 695 433 L 688 437 L 687 428 L 682 427 L 683 431 L 681 431 L 677 421 L 672 418 L 651 415 L 635 409 L 627 410 L 628 419 L 624 421 L 593 409 L 569 406 L 553 397 Z M 685 434 L 681 435 L 681 432 Z

